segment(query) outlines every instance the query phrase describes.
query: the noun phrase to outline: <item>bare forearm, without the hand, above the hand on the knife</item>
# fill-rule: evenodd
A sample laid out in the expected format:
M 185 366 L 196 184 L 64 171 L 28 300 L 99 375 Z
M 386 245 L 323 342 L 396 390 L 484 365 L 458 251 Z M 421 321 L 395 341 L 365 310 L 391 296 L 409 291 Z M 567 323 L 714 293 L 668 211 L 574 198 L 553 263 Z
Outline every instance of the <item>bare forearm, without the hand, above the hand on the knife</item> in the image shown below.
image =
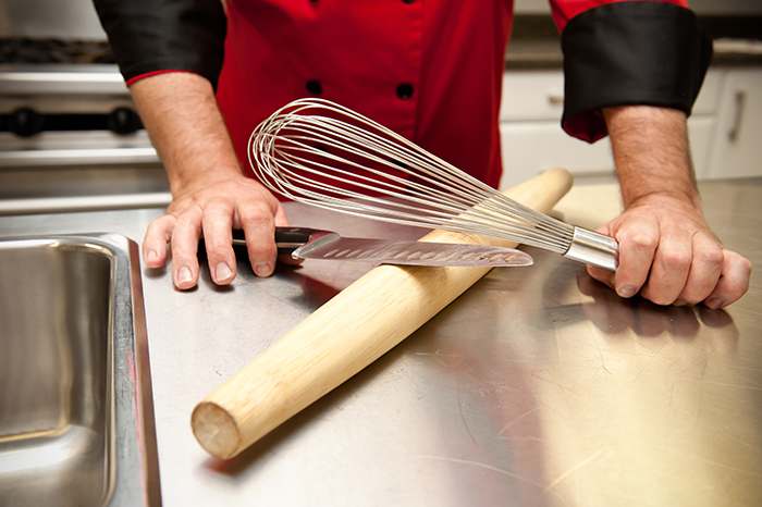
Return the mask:
M 173 195 L 201 181 L 242 175 L 207 79 L 186 72 L 160 74 L 133 84 L 131 92 Z

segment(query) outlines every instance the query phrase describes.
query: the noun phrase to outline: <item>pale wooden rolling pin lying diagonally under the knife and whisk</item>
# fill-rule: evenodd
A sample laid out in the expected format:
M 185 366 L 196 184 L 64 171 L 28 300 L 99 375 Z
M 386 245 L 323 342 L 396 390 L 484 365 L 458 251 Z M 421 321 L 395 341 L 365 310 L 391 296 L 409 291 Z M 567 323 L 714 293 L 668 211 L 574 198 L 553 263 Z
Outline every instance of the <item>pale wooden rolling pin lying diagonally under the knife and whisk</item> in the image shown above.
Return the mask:
M 554 169 L 505 194 L 548 213 L 572 187 Z M 433 231 L 421 240 L 514 247 L 515 243 Z M 490 268 L 380 265 L 284 335 L 193 411 L 196 438 L 231 458 L 384 355 Z

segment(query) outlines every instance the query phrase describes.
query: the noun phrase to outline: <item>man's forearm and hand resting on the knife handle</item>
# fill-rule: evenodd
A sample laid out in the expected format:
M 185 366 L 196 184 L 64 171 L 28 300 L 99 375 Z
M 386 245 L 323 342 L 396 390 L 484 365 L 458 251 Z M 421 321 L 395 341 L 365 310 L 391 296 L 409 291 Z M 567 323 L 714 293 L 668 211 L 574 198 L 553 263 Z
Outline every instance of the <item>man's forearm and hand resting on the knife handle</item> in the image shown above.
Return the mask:
M 197 249 L 204 237 L 212 280 L 229 284 L 236 274 L 232 230 L 243 228 L 254 272 L 272 274 L 274 228 L 288 223 L 278 199 L 241 171 L 211 84 L 173 72 L 146 77 L 130 89 L 173 197 L 167 214 L 146 231 L 146 265 L 163 265 L 170 243 L 172 280 L 177 288 L 192 288 L 198 283 Z

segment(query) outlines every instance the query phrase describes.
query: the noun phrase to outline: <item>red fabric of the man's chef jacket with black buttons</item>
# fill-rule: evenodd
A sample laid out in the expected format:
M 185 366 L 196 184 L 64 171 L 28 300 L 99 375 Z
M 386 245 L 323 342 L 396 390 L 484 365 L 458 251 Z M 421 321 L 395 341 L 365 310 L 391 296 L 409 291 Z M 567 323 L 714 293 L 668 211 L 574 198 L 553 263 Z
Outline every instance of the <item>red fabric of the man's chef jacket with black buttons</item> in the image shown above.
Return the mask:
M 124 48 L 118 51 L 119 57 L 120 52 L 130 52 L 134 44 L 131 40 L 139 39 L 122 35 L 120 30 L 127 26 L 125 15 L 115 11 L 119 2 L 109 1 L 108 10 L 103 7 L 101 11 L 108 14 L 114 10 L 110 36 L 115 49 Z M 107 0 L 96 0 L 99 3 L 106 4 Z M 624 3 L 687 7 L 685 0 L 550 3 L 560 30 L 575 16 L 594 8 L 618 8 Z M 130 2 L 121 5 L 137 9 Z M 497 185 L 502 171 L 499 110 L 504 52 L 513 22 L 512 0 L 225 0 L 224 5 L 226 38 L 217 97 L 237 156 L 249 175 L 247 141 L 257 124 L 294 99 L 318 96 L 354 109 L 489 185 Z M 623 16 L 620 12 L 626 10 L 618 11 L 613 16 L 616 20 L 638 17 Z M 588 27 L 598 22 L 586 23 L 577 32 L 588 37 Z M 615 34 L 616 23 L 613 25 Z M 639 29 L 642 32 L 642 27 Z M 582 48 L 577 53 L 591 47 L 589 40 L 593 40 L 592 46 L 597 44 L 594 38 L 585 40 L 577 45 Z M 616 58 L 610 60 L 629 52 L 629 47 L 625 44 L 617 51 Z M 581 57 L 585 66 L 587 62 Z M 137 65 L 140 67 L 142 63 Z M 607 65 L 599 65 L 601 72 Z M 638 65 L 643 64 L 636 62 L 636 69 Z M 158 66 L 156 72 L 174 69 L 177 67 Z M 132 83 L 151 73 L 126 73 L 125 77 Z M 625 69 L 624 74 L 628 73 L 642 74 Z M 589 87 L 581 88 L 586 95 Z M 632 91 L 636 97 L 638 92 Z M 587 90 L 587 95 L 594 100 L 597 92 Z M 622 100 L 613 97 L 610 102 Z M 605 135 L 605 127 L 601 131 L 599 126 L 589 134 L 582 132 L 586 122 L 573 120 L 566 128 L 572 135 L 587 140 Z

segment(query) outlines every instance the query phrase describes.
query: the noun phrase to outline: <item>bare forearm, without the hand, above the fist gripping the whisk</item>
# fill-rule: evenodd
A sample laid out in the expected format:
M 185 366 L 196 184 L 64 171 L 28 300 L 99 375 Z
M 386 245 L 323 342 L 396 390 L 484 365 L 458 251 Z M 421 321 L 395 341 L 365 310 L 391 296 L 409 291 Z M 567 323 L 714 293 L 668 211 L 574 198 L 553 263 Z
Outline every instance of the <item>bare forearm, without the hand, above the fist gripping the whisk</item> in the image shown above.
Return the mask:
M 700 213 L 683 111 L 648 106 L 605 108 L 625 209 L 662 196 Z

